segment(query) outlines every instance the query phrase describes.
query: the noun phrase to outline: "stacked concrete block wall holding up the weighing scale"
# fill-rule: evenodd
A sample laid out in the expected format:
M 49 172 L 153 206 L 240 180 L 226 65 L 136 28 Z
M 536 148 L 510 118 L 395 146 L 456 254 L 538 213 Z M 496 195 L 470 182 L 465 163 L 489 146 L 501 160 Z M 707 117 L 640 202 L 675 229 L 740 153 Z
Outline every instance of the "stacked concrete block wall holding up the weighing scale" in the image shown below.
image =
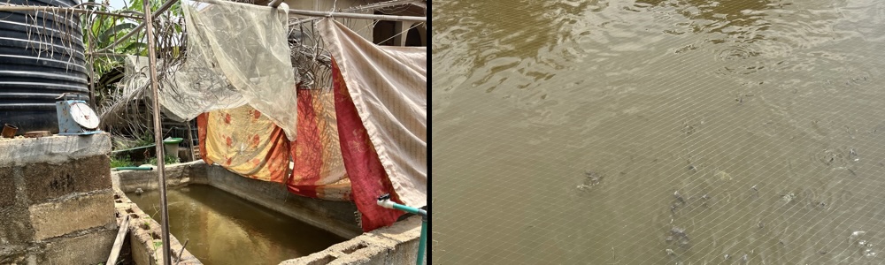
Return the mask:
M 0 140 L 0 263 L 97 264 L 117 233 L 111 138 Z

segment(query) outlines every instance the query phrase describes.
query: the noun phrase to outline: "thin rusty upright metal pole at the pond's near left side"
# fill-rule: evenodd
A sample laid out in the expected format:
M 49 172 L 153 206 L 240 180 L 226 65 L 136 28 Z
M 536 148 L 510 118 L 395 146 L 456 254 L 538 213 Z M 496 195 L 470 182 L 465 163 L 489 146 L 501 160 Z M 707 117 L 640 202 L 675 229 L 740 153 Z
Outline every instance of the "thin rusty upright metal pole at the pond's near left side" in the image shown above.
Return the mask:
M 171 2 L 171 1 L 170 1 Z M 172 265 L 169 253 L 169 209 L 166 202 L 165 186 L 165 155 L 163 154 L 163 125 L 160 120 L 160 97 L 157 87 L 157 52 L 154 47 L 153 14 L 150 13 L 150 1 L 144 1 L 144 23 L 148 35 L 148 64 L 150 70 L 150 90 L 153 91 L 154 105 L 154 145 L 157 147 L 157 178 L 160 188 L 160 212 L 163 238 L 163 264 Z

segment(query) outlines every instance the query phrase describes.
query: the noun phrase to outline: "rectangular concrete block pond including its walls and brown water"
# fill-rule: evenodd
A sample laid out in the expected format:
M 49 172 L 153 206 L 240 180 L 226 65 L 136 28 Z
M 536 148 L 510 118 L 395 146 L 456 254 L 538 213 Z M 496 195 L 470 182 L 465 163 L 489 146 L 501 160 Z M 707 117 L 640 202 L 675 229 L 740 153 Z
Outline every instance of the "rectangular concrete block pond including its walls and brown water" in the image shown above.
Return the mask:
M 419 216 L 363 233 L 352 202 L 300 197 L 202 161 L 165 172 L 170 246 L 182 264 L 404 264 L 417 254 Z M 135 264 L 162 259 L 160 225 L 151 218 L 159 212 L 156 174 L 112 172 L 118 220 L 130 217 Z

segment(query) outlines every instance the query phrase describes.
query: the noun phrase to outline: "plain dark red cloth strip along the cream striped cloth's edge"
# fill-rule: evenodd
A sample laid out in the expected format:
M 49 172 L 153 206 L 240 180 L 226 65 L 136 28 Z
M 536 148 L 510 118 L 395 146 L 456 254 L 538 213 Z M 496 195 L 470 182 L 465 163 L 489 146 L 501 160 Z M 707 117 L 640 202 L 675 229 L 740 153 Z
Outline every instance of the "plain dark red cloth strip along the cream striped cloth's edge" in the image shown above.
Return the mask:
M 335 60 L 332 61 L 332 84 L 335 90 L 335 113 L 344 168 L 347 169 L 350 186 L 353 188 L 353 201 L 362 214 L 363 231 L 389 226 L 404 212 L 378 206 L 378 196 L 389 193 L 392 201 L 397 203 L 402 201 L 394 192 L 378 153 L 369 141 L 366 127 L 350 99 L 347 84 L 342 79 L 341 70 L 335 64 Z M 298 134 L 298 137 L 301 137 L 301 134 Z

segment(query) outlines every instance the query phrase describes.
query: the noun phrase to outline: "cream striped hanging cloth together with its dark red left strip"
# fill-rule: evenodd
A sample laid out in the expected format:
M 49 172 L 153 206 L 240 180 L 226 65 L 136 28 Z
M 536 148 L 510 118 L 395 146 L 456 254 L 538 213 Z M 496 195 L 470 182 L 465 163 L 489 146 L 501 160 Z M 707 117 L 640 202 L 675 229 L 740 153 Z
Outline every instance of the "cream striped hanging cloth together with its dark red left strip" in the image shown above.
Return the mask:
M 333 57 L 338 135 L 364 231 L 402 212 L 376 198 L 427 205 L 427 48 L 381 47 L 334 19 L 319 21 Z

